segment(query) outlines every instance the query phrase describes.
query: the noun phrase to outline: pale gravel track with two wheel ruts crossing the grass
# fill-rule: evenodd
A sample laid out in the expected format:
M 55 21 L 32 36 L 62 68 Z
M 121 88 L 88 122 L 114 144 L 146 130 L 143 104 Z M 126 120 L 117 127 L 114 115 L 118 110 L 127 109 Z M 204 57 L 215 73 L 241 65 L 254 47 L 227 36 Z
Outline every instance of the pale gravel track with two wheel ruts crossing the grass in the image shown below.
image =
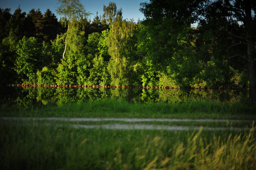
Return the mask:
M 239 121 L 239 120 L 224 120 L 224 119 L 167 119 L 167 118 L 66 118 L 66 117 L 2 117 L 4 121 L 36 121 L 36 120 L 57 120 L 57 121 L 124 121 L 124 122 L 149 122 L 149 121 L 159 121 L 159 122 L 226 122 L 226 121 Z M 247 120 L 249 121 L 249 120 Z M 43 123 L 35 123 L 37 126 L 43 125 Z M 47 122 L 44 125 L 47 126 L 69 126 L 74 128 L 85 128 L 85 129 L 111 129 L 111 130 L 167 130 L 167 131 L 187 131 L 187 130 L 250 130 L 250 128 L 232 128 L 232 127 L 200 127 L 200 126 L 168 126 L 168 125 L 158 125 L 158 124 L 121 124 L 121 123 L 111 123 L 102 125 L 80 125 L 80 124 L 59 124 L 54 122 Z

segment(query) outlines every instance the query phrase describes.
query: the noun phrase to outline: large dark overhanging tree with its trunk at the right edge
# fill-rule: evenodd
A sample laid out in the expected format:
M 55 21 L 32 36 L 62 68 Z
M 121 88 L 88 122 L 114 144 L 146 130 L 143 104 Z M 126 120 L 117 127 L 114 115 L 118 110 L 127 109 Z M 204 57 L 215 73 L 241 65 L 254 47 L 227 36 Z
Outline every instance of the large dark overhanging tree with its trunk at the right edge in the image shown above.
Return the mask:
M 250 100 L 256 104 L 255 1 L 150 0 L 141 5 L 146 17 L 142 23 L 150 28 L 138 47 L 151 56 L 153 66 L 161 63 L 160 69 L 165 65 L 174 70 L 182 84 L 201 79 L 210 87 L 228 87 L 247 65 Z M 195 23 L 197 29 L 191 26 Z

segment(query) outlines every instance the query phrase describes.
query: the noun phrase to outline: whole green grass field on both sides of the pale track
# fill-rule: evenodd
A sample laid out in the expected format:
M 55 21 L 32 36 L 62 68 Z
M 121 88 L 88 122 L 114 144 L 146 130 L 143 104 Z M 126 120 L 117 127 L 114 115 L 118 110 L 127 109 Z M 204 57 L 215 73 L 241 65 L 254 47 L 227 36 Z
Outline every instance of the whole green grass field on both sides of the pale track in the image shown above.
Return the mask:
M 38 105 L 29 109 L 3 104 L 1 117 L 18 117 L 18 120 L 0 118 L 0 166 L 1 169 L 254 170 L 255 110 L 255 106 L 246 104 L 213 102 L 141 104 L 110 100 Z M 23 117 L 213 118 L 224 121 L 21 121 Z M 70 126 L 114 123 L 228 129 L 110 130 Z

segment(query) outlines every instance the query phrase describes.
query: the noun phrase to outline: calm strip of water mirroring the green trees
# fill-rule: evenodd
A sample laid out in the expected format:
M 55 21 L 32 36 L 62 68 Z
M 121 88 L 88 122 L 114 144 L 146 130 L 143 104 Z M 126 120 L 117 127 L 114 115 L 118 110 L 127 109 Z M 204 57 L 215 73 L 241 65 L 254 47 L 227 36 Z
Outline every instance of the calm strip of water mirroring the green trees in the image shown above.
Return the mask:
M 52 87 L 1 87 L 0 105 L 15 104 L 24 108 L 40 105 L 65 105 L 104 100 L 128 102 L 196 102 L 246 103 L 247 90 L 187 90 L 187 89 L 124 89 L 124 88 L 52 88 Z

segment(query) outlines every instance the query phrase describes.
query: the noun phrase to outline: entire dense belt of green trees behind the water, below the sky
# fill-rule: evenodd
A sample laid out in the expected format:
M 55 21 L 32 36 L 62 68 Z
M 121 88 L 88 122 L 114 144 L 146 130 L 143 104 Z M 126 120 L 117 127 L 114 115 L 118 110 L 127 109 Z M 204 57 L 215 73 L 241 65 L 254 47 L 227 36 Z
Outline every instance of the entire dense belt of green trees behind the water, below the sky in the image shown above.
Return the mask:
M 255 1 L 150 0 L 137 23 L 58 1 L 59 20 L 0 8 L 0 84 L 250 88 L 256 104 Z

